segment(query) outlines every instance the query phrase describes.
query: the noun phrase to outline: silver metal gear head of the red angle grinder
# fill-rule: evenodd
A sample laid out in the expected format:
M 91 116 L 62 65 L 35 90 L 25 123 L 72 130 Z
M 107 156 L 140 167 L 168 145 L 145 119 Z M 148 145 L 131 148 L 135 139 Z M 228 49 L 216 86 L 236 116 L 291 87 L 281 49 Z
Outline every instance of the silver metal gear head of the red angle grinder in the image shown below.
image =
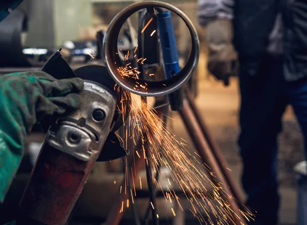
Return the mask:
M 87 162 L 101 150 L 111 131 L 117 103 L 110 91 L 88 82 L 84 83 L 80 96 L 82 104 L 79 110 L 69 117 L 59 118 L 57 126 L 50 129 L 47 141 L 59 151 Z M 96 110 L 102 110 L 105 114 L 101 121 L 93 117 Z

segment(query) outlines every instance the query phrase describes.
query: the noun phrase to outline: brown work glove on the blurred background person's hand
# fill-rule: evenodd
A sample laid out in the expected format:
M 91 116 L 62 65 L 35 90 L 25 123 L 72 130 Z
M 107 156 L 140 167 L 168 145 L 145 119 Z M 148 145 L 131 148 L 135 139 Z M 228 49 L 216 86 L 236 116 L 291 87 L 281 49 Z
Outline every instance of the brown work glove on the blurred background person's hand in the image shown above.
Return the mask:
M 217 80 L 229 85 L 238 68 L 237 53 L 232 44 L 233 28 L 230 20 L 213 20 L 206 26 L 208 70 Z

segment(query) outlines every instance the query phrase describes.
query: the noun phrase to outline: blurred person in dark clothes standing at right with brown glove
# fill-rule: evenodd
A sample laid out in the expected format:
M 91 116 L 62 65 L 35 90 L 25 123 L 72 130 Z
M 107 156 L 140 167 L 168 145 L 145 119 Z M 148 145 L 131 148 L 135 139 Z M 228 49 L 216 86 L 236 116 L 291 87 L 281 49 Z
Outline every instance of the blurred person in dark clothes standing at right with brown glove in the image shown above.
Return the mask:
M 288 104 L 307 153 L 307 1 L 199 0 L 198 18 L 206 28 L 209 71 L 228 85 L 239 64 L 246 205 L 256 215 L 251 224 L 275 225 L 277 135 Z

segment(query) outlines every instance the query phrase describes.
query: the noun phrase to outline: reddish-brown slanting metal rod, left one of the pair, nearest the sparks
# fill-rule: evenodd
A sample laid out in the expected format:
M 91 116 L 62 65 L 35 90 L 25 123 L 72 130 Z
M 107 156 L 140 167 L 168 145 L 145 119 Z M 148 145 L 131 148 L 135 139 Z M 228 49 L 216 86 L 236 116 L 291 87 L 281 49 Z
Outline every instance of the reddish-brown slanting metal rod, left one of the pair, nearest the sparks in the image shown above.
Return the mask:
M 222 183 L 222 187 L 225 193 L 229 196 L 232 196 L 233 193 L 229 189 L 229 184 L 225 179 L 221 167 L 218 164 L 216 158 L 214 157 L 210 149 L 210 146 L 206 141 L 206 138 L 203 135 L 201 126 L 198 123 L 198 120 L 196 119 L 195 114 L 193 113 L 193 110 L 191 109 L 187 99 L 184 99 L 183 101 L 183 108 L 182 110 L 180 110 L 180 115 L 203 162 L 206 163 L 212 169 L 212 171 L 214 171 L 216 178 L 218 179 L 219 182 Z M 218 185 L 219 184 L 217 184 L 217 186 Z M 228 198 L 227 200 L 230 201 L 232 205 L 238 206 L 235 199 Z M 236 224 L 241 224 L 241 222 L 245 222 L 245 219 L 240 214 L 238 208 L 233 208 L 232 210 L 239 217 L 239 218 L 236 216 L 233 217 L 233 219 L 236 221 Z

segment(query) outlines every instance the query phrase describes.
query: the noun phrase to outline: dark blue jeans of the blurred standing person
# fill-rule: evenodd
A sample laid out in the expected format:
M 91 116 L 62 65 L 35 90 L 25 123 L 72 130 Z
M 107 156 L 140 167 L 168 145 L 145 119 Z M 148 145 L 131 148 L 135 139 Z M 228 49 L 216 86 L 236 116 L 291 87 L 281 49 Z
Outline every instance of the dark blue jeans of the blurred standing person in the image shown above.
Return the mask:
M 256 224 L 261 225 L 277 223 L 277 134 L 288 104 L 293 106 L 300 123 L 307 152 L 307 79 L 286 82 L 282 70 L 281 59 L 268 57 L 256 76 L 248 75 L 244 63 L 239 72 L 242 184 L 248 195 L 246 205 L 256 211 Z

